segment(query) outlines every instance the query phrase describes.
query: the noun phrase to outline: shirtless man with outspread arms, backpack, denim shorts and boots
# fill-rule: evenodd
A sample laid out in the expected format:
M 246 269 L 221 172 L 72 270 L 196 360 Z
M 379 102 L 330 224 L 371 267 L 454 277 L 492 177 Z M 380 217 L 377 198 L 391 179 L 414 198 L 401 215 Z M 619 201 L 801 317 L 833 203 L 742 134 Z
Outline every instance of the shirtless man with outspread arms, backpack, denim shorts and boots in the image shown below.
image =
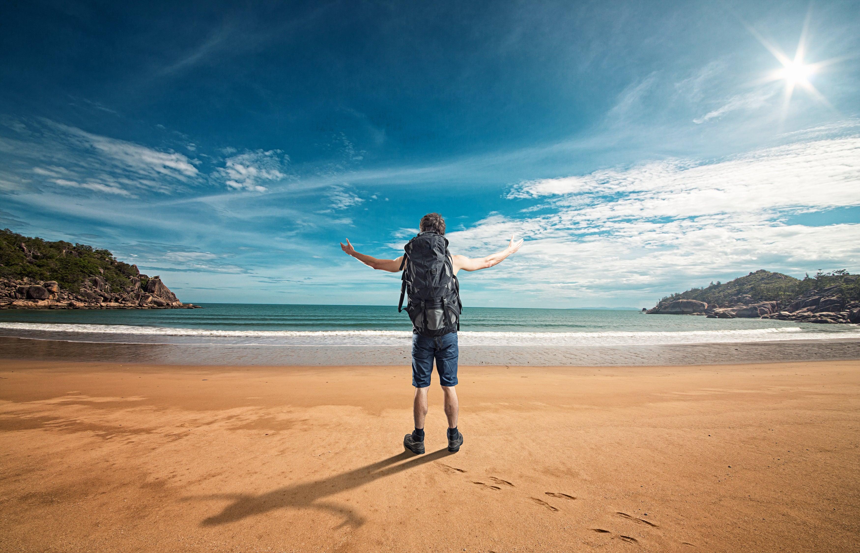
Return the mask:
M 445 237 L 445 219 L 439 213 L 427 213 L 421 218 L 418 236 L 406 245 L 406 259 L 401 255 L 397 259 L 377 259 L 370 255 L 359 254 L 353 249 L 353 244 L 347 238 L 347 244 L 341 243 L 341 249 L 348 255 L 352 255 L 368 267 L 397 273 L 404 271 L 403 290 L 409 291 L 409 304 L 406 310 L 413 322 L 412 335 L 412 385 L 415 386 L 415 400 L 412 413 L 415 418 L 415 431 L 406 434 L 403 438 L 403 446 L 415 454 L 424 452 L 424 420 L 427 417 L 427 390 L 430 387 L 430 375 L 433 373 L 433 359 L 436 359 L 436 371 L 439 372 L 439 384 L 445 395 L 445 415 L 448 417 L 448 451 L 458 452 L 463 445 L 463 434 L 457 427 L 459 414 L 459 402 L 457 400 L 457 360 L 459 356 L 457 344 L 457 330 L 459 329 L 459 285 L 457 273 L 460 269 L 464 271 L 477 271 L 487 267 L 498 265 L 508 255 L 513 254 L 522 245 L 523 240 L 508 243 L 506 249 L 502 249 L 487 257 L 470 259 L 465 255 L 451 255 L 447 249 L 448 241 Z M 410 248 L 410 246 L 412 246 Z M 424 246 L 422 248 L 422 246 Z M 428 253 L 429 252 L 429 253 Z M 442 264 L 433 264 L 433 253 L 440 255 Z M 444 252 L 444 254 L 442 253 Z M 427 261 L 430 255 L 430 261 Z M 409 260 L 413 264 L 407 267 Z M 416 267 L 427 269 L 426 274 L 432 273 L 433 282 L 437 286 L 418 286 L 416 282 L 424 276 L 417 273 Z M 430 267 L 430 268 L 427 268 Z M 410 271 L 410 269 L 414 269 Z M 407 273 L 409 279 L 407 280 Z M 451 273 L 451 274 L 448 274 Z M 448 277 L 445 280 L 445 277 Z M 439 286 L 444 285 L 444 286 Z M 433 298 L 426 298 L 427 289 L 433 289 L 441 296 L 439 302 L 433 302 Z M 401 304 L 403 294 L 401 293 Z M 430 304 L 429 309 L 426 304 Z M 437 306 L 433 309 L 433 306 Z M 439 307 L 440 306 L 440 307 Z M 427 314 L 431 313 L 428 323 Z M 435 320 L 435 323 L 433 323 Z

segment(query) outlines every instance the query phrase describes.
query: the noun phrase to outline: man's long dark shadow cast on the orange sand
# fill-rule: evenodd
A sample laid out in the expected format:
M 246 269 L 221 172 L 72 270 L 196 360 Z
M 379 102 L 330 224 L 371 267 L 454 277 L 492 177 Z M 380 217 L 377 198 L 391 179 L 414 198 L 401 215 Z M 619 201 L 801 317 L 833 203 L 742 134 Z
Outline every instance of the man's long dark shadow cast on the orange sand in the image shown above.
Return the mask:
M 347 489 L 358 488 L 364 484 L 391 476 L 403 470 L 414 469 L 421 464 L 435 461 L 436 459 L 444 458 L 453 453 L 447 449 L 440 449 L 433 453 L 427 453 L 421 457 L 415 457 L 410 452 L 402 452 L 393 457 L 378 461 L 376 463 L 367 464 L 358 469 L 350 470 L 339 475 L 329 476 L 314 482 L 306 482 L 296 484 L 294 486 L 286 486 L 284 488 L 273 489 L 270 492 L 261 495 L 249 494 L 213 494 L 200 495 L 194 498 L 197 500 L 208 499 L 229 499 L 233 502 L 221 513 L 204 519 L 201 526 L 217 526 L 235 522 L 255 514 L 267 513 L 275 509 L 293 507 L 297 509 L 312 508 L 330 511 L 344 517 L 343 522 L 338 528 L 345 525 L 358 527 L 365 523 L 365 519 L 355 513 L 353 509 L 342 507 L 331 501 L 319 501 L 329 495 L 337 494 L 338 492 Z M 396 464 L 398 461 L 412 458 L 406 463 Z M 394 466 L 391 466 L 394 465 Z

